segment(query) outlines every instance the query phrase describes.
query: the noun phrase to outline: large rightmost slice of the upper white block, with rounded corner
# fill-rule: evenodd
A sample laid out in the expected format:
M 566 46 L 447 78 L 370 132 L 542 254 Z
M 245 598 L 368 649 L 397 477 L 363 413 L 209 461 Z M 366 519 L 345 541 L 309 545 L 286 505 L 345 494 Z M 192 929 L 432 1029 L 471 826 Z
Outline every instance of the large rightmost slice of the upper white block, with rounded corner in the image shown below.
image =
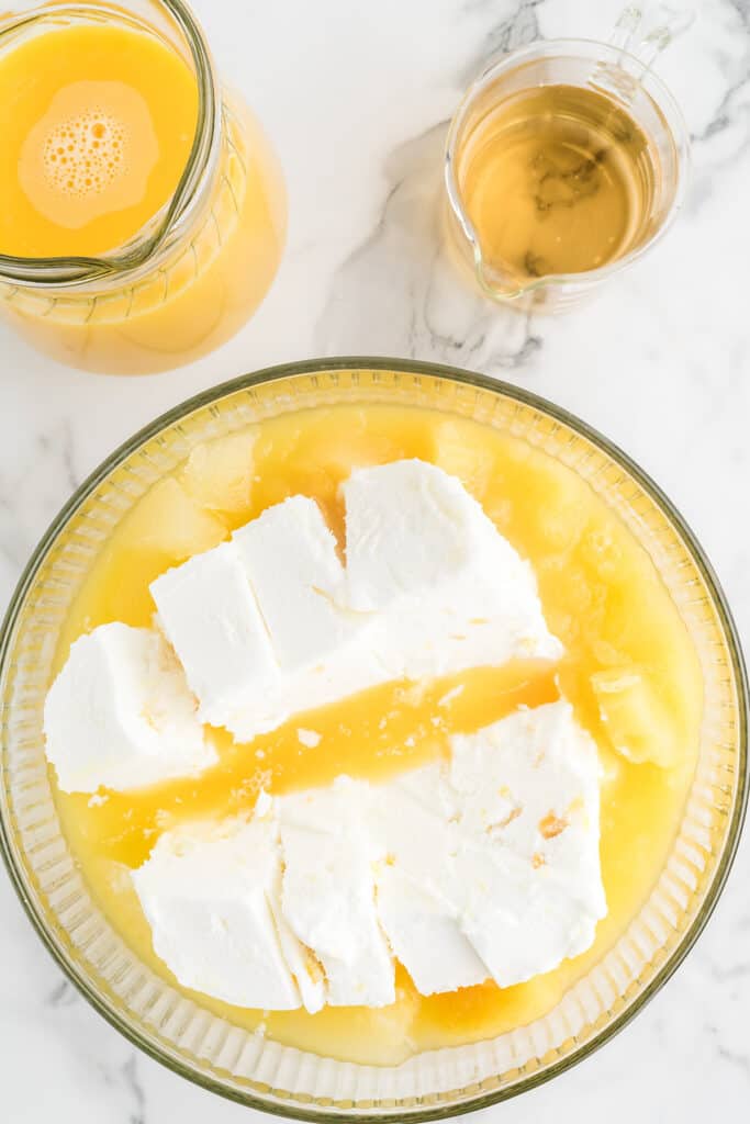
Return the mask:
M 396 461 L 342 487 L 350 596 L 385 618 L 383 661 L 398 650 L 404 673 L 419 678 L 561 655 L 533 571 L 459 480 Z

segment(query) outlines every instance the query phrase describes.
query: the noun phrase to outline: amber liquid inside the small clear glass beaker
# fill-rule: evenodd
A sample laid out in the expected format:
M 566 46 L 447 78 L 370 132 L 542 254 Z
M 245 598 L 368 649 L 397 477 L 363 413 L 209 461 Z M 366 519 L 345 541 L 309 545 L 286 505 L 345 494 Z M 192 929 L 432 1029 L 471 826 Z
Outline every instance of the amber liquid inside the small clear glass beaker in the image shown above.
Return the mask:
M 591 88 L 513 94 L 471 129 L 458 166 L 482 255 L 521 278 L 598 269 L 643 236 L 656 174 L 648 139 Z

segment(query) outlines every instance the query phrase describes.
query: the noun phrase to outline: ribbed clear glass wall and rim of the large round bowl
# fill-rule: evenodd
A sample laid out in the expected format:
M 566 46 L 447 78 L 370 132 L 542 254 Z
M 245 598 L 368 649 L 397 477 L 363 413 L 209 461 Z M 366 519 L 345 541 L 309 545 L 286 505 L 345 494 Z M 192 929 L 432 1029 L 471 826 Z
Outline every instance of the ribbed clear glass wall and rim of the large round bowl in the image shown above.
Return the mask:
M 207 437 L 320 404 L 387 401 L 477 418 L 573 468 L 649 551 L 699 654 L 705 714 L 680 831 L 626 933 L 545 1017 L 401 1066 L 343 1063 L 253 1035 L 168 986 L 110 927 L 61 834 L 42 735 L 51 661 L 71 600 L 141 495 Z M 485 1107 L 561 1072 L 640 1010 L 695 943 L 737 849 L 747 799 L 748 683 L 729 608 L 669 500 L 588 426 L 515 388 L 451 368 L 342 359 L 274 368 L 199 395 L 123 445 L 39 543 L 0 637 L 0 836 L 39 936 L 93 1006 L 175 1072 L 280 1115 L 428 1120 Z

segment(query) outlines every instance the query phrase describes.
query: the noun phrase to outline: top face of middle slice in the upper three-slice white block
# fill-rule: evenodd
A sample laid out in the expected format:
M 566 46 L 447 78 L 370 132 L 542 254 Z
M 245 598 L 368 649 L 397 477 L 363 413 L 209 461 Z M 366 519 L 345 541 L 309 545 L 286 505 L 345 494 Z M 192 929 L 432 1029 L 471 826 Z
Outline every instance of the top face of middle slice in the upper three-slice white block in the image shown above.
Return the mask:
M 336 541 L 315 500 L 292 496 L 233 536 L 283 670 L 316 663 L 350 637 Z

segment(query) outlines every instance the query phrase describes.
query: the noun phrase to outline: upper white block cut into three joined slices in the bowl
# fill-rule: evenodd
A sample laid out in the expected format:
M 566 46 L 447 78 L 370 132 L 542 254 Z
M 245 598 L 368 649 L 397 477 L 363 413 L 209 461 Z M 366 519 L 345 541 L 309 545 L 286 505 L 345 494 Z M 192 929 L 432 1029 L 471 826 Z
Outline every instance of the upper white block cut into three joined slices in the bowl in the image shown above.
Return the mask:
M 531 568 L 459 480 L 397 461 L 343 491 L 346 570 L 295 496 L 153 583 L 207 720 L 250 741 L 379 683 L 561 654 Z

